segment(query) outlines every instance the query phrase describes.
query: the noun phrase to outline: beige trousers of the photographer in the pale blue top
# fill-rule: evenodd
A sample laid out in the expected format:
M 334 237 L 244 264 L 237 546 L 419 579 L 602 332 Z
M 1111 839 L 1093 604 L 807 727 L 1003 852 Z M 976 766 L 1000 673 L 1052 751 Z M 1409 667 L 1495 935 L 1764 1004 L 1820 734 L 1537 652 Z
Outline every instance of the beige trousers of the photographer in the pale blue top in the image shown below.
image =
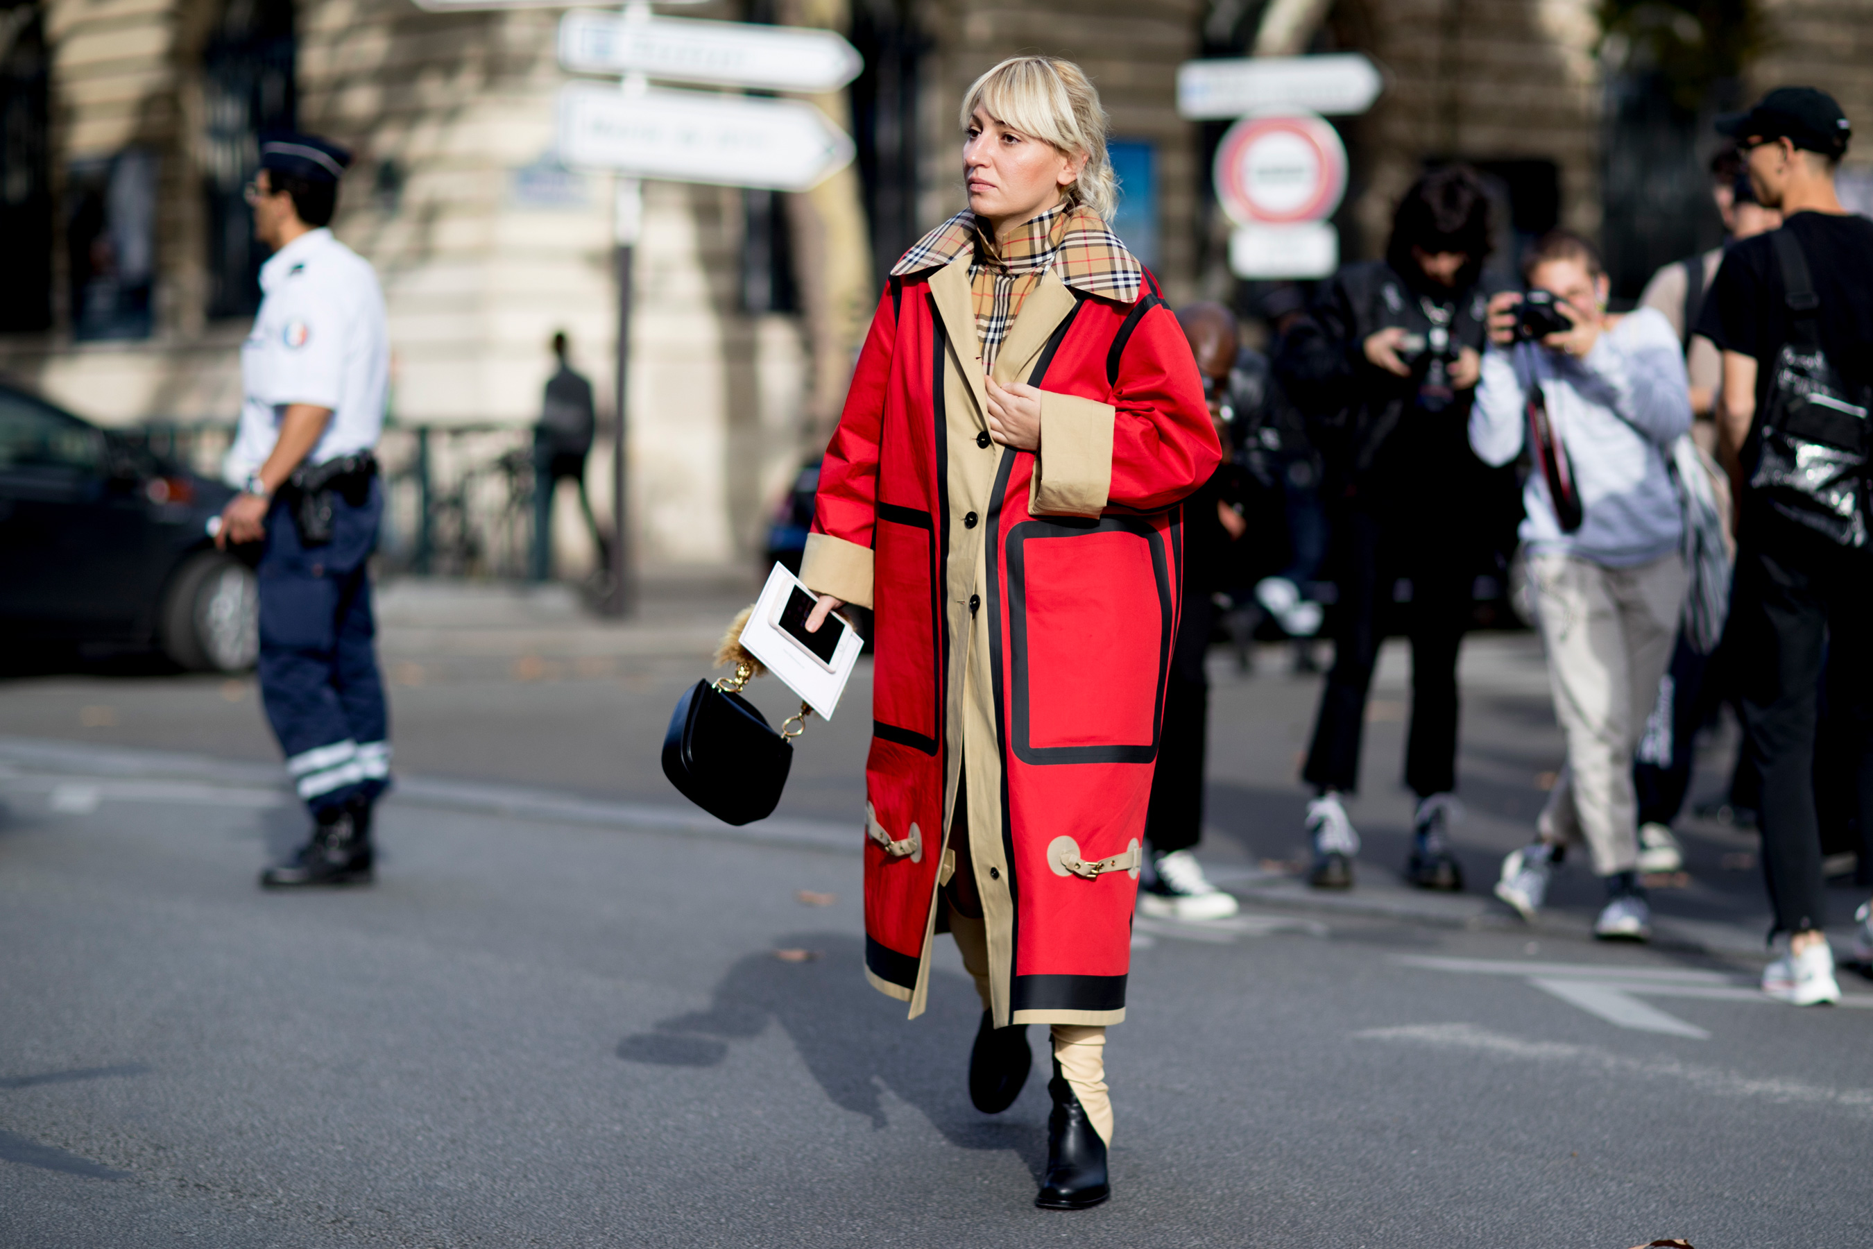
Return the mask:
M 1586 841 L 1594 873 L 1639 865 L 1633 751 L 1671 663 L 1689 582 L 1674 552 L 1639 567 L 1601 567 L 1562 554 L 1528 560 L 1547 644 L 1555 719 L 1568 766 L 1536 828 L 1541 841 Z

